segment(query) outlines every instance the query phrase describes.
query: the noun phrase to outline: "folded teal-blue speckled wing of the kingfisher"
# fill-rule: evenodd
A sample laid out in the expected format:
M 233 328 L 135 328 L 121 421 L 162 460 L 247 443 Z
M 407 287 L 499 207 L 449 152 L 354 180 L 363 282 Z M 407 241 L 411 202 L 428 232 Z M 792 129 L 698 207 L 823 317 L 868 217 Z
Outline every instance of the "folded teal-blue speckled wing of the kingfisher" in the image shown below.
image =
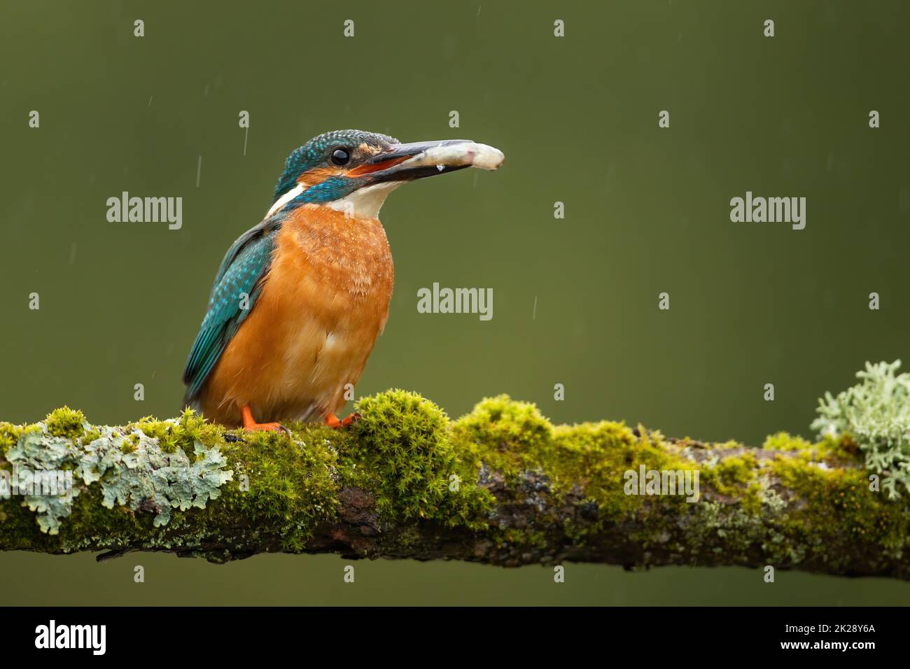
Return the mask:
M 277 227 L 267 227 L 264 225 L 267 223 L 263 221 L 234 242 L 218 269 L 206 316 L 183 372 L 187 403 L 197 399 L 227 344 L 256 304 L 271 265 L 277 235 Z M 248 309 L 242 308 L 246 306 L 242 305 L 244 293 L 249 296 Z

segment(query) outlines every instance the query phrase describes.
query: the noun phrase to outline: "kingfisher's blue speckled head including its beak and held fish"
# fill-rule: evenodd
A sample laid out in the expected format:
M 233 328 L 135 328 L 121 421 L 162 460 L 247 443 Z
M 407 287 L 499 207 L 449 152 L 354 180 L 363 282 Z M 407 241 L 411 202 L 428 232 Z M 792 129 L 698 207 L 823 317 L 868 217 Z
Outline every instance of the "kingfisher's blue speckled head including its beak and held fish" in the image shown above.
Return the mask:
M 355 218 L 376 218 L 389 192 L 401 184 L 464 167 L 496 169 L 502 152 L 467 139 L 402 144 L 363 130 L 313 137 L 285 161 L 268 214 L 323 205 Z

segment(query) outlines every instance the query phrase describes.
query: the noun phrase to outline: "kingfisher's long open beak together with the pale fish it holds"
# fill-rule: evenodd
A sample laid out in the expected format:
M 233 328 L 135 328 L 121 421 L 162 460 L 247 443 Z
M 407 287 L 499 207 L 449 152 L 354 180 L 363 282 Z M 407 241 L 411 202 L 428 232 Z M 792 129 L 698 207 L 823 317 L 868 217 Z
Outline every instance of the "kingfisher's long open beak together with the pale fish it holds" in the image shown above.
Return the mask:
M 349 177 L 369 177 L 372 183 L 413 181 L 465 167 L 496 169 L 504 159 L 498 148 L 476 144 L 470 139 L 411 142 L 389 147 L 364 165 L 355 167 Z

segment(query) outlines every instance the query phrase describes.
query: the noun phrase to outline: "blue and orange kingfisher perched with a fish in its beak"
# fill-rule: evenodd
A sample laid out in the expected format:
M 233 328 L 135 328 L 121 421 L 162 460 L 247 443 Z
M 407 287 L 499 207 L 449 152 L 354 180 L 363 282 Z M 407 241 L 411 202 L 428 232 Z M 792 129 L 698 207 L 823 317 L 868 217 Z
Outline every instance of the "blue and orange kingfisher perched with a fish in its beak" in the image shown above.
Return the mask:
M 247 430 L 356 420 L 336 412 L 385 327 L 394 283 L 379 208 L 401 184 L 503 159 L 467 139 L 402 144 L 363 130 L 296 148 L 265 218 L 221 261 L 187 358 L 185 405 Z

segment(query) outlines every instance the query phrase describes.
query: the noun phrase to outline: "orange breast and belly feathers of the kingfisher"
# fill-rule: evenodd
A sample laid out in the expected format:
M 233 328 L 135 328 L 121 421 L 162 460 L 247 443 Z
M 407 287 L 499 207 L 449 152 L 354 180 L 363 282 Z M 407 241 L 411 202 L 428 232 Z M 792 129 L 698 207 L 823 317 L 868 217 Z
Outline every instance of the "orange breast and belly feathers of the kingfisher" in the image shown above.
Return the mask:
M 200 398 L 207 418 L 319 420 L 344 404 L 389 317 L 389 242 L 376 218 L 296 209 L 278 233 L 262 293 Z

